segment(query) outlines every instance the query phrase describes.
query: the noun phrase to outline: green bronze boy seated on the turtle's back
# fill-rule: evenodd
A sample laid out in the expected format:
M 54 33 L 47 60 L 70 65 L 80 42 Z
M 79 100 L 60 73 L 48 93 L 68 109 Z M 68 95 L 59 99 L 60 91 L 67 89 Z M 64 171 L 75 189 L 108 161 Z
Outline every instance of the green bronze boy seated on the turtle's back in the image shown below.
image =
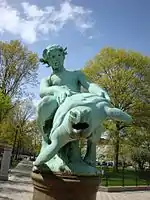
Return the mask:
M 53 70 L 51 76 L 44 78 L 40 83 L 40 97 L 42 99 L 37 109 L 37 123 L 43 135 L 45 135 L 46 122 L 48 120 L 52 122 L 59 105 L 64 102 L 66 97 L 80 93 L 81 86 L 89 93 L 97 94 L 110 101 L 106 91 L 97 84 L 88 81 L 81 71 L 68 71 L 64 68 L 66 55 L 67 48 L 53 45 L 48 46 L 43 51 L 43 58 L 40 60 L 42 63 L 48 64 L 48 67 L 51 66 Z

